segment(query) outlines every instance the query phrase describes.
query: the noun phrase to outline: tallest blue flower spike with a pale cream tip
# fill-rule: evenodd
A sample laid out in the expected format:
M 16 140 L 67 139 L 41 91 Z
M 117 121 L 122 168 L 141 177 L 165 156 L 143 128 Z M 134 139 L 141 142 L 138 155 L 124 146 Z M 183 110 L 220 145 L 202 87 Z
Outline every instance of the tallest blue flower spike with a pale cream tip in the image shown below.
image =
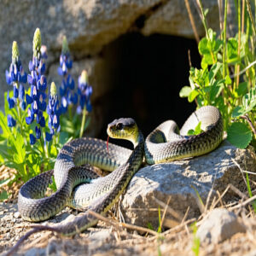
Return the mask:
M 46 109 L 46 89 L 47 81 L 44 76 L 45 63 L 44 58 L 46 55 L 46 48 L 43 47 L 41 52 L 41 33 L 37 28 L 33 38 L 33 57 L 32 61 L 29 61 L 30 74 L 27 75 L 27 82 L 30 84 L 30 95 L 26 94 L 26 103 L 30 105 L 27 109 L 26 124 L 31 125 L 34 120 L 37 122 L 35 128 L 35 134 L 30 135 L 30 143 L 36 143 L 36 139 L 41 137 L 40 127 L 45 126 L 44 111 Z

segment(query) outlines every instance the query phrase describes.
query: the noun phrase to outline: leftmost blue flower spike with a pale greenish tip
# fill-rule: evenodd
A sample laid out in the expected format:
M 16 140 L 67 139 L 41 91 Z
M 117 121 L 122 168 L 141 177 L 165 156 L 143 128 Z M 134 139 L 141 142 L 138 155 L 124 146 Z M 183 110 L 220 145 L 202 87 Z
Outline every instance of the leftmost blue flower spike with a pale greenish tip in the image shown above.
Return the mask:
M 12 47 L 12 63 L 10 64 L 9 71 L 5 71 L 5 79 L 7 84 L 13 86 L 14 96 L 9 97 L 9 91 L 7 93 L 7 101 L 9 104 L 9 109 L 14 108 L 16 103 L 19 103 L 19 108 L 22 110 L 26 109 L 25 102 L 25 89 L 26 84 L 26 73 L 21 65 L 19 48 L 17 42 L 13 42 Z

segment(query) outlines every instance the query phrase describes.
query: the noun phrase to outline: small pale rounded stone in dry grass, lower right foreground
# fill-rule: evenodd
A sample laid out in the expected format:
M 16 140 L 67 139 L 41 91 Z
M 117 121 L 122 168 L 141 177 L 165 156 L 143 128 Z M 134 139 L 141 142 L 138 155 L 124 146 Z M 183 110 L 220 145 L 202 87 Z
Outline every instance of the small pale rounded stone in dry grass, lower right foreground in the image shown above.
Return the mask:
M 217 244 L 239 232 L 246 232 L 246 227 L 241 224 L 236 214 L 224 208 L 215 208 L 202 220 L 196 236 L 202 244 Z

